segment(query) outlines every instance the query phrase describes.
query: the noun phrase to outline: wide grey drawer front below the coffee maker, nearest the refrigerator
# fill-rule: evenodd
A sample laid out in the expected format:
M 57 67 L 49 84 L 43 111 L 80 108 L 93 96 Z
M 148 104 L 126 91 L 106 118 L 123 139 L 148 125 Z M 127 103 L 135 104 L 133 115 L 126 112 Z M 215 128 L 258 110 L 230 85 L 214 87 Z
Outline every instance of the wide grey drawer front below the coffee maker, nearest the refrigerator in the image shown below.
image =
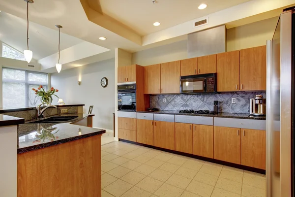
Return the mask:
M 214 126 L 266 130 L 266 121 L 238 118 L 214 118 Z

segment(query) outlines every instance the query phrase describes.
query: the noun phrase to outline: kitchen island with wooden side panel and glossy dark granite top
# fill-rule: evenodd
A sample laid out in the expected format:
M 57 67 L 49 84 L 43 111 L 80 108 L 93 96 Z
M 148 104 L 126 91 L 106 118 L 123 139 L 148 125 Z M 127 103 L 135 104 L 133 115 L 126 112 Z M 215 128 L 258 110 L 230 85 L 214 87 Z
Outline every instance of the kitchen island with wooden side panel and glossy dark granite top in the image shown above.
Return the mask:
M 92 128 L 93 115 L 58 116 L 75 118 L 18 126 L 17 196 L 100 197 L 100 137 L 105 130 Z

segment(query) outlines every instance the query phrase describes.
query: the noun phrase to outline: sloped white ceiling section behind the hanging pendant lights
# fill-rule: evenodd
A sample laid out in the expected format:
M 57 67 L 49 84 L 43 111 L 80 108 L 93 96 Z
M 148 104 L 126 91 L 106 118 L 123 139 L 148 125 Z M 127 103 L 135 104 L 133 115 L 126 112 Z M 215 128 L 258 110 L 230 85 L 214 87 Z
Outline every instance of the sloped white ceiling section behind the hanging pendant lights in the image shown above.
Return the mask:
M 82 39 L 62 33 L 60 29 L 60 50 L 83 42 Z M 27 20 L 0 12 L 0 40 L 18 51 L 27 49 Z M 36 23 L 29 23 L 29 49 L 33 59 L 40 60 L 58 52 L 58 28 L 50 29 Z

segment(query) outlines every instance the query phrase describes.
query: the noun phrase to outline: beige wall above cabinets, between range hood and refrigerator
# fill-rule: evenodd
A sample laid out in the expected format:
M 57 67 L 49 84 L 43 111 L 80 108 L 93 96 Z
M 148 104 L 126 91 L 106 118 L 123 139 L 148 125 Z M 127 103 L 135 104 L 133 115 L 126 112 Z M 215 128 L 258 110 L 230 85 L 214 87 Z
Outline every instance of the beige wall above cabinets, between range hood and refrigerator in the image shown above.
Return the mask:
M 279 17 L 227 30 L 227 51 L 266 45 L 275 31 Z

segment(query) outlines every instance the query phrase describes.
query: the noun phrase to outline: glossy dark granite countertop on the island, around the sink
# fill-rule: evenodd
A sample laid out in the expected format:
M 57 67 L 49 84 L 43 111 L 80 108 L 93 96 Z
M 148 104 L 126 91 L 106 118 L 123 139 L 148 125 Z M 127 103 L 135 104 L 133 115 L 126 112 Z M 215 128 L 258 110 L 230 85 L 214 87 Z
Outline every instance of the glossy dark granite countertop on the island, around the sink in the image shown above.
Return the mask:
M 25 153 L 106 132 L 101 129 L 74 125 L 76 122 L 94 115 L 75 113 L 59 114 L 54 117 L 56 116 L 77 116 L 77 118 L 63 123 L 34 123 L 28 121 L 26 124 L 19 125 L 17 153 Z

